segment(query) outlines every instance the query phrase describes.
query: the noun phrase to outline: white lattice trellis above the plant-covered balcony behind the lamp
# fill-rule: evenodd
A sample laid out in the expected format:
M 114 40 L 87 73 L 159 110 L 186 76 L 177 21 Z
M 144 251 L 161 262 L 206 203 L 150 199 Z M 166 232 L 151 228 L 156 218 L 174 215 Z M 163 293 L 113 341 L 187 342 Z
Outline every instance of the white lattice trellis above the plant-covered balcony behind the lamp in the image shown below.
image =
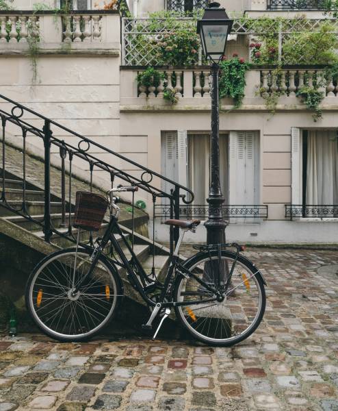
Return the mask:
M 286 41 L 295 41 L 298 39 L 295 34 L 302 32 L 316 32 L 324 22 L 330 22 L 333 26 L 333 33 L 338 34 L 338 21 L 335 18 L 292 18 L 265 21 L 263 29 L 259 24 L 255 24 L 252 19 L 236 19 L 233 23 L 232 34 L 239 36 L 249 35 L 251 38 L 262 36 L 266 32 L 276 35 L 281 44 L 278 51 L 283 54 L 283 45 Z M 165 35 L 175 32 L 180 25 L 185 24 L 192 28 L 196 27 L 196 21 L 192 18 L 177 18 L 166 24 L 166 20 L 154 21 L 150 18 L 123 18 L 122 26 L 122 64 L 125 66 L 157 66 L 159 65 L 159 55 L 157 42 L 161 41 Z M 263 32 L 265 30 L 265 32 Z M 299 64 L 304 61 L 304 56 L 299 56 Z M 198 58 L 196 56 L 196 64 Z

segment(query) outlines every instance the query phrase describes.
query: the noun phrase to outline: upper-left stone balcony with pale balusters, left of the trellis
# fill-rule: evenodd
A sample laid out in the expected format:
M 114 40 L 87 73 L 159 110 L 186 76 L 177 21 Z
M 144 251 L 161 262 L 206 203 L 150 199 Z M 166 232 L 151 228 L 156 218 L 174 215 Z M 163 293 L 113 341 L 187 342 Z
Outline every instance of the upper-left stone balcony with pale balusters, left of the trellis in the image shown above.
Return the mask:
M 120 14 L 117 10 L 0 12 L 0 54 L 97 53 L 120 55 Z

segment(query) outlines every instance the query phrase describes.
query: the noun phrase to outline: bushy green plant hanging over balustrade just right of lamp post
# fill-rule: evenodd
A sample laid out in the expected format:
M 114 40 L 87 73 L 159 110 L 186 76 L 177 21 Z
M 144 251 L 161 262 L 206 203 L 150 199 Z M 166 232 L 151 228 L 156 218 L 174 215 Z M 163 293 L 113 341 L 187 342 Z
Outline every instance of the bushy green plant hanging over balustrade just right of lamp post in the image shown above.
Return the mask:
M 248 69 L 250 69 L 250 64 L 237 56 L 231 60 L 220 62 L 220 99 L 231 97 L 234 101 L 234 108 L 239 108 L 242 105 Z

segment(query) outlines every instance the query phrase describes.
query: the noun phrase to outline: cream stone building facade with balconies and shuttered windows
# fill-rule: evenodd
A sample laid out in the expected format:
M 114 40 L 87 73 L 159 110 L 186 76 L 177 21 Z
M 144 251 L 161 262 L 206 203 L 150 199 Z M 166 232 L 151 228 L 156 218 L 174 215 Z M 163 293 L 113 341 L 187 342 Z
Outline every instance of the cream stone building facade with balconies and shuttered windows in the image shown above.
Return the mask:
M 205 3 L 134 0 L 127 4 L 133 18 L 121 18 L 114 5 L 113 10 L 102 10 L 105 3 L 78 0 L 71 16 L 55 16 L 48 11 L 32 14 L 31 2 L 14 1 L 10 4 L 23 12 L 0 12 L 0 94 L 188 186 L 195 198 L 188 206 L 182 203 L 181 218 L 205 220 L 209 188 L 209 68 L 202 64 L 157 67 L 166 82 L 156 87 L 144 87 L 137 80 L 147 66 L 156 67 L 152 47 L 161 33 L 151 31 L 149 13 L 198 10 Z M 226 48 L 229 59 L 236 53 L 239 58 L 252 60 L 250 44 L 257 36 L 244 27 L 242 16 L 298 19 L 313 27 L 324 19 L 336 24 L 320 10 L 320 1 L 220 3 L 236 21 Z M 39 31 L 39 53 L 33 64 L 27 58 L 31 45 L 22 41 L 25 36 L 21 34 L 25 34 L 32 17 L 38 21 Z M 5 25 L 10 27 L 6 36 Z M 278 52 L 283 51 L 285 36 L 287 33 L 281 29 Z M 148 42 L 140 43 L 141 37 Z M 280 66 L 276 77 L 274 70 L 273 66 L 252 65 L 246 73 L 242 105 L 233 110 L 232 99 L 221 101 L 220 182 L 226 199 L 224 218 L 229 219 L 227 239 L 337 242 L 337 82 L 324 75 L 323 66 L 306 65 L 301 58 L 299 64 Z M 323 114 L 313 121 L 313 112 L 296 94 L 302 84 L 317 84 L 319 78 Z M 174 90 L 177 103 L 163 98 L 166 89 Z M 278 96 L 273 110 L 267 105 L 267 96 Z M 34 138 L 30 143 L 37 144 Z M 105 153 L 96 155 L 104 159 Z M 124 169 L 122 160 L 116 165 Z M 81 169 L 81 164 L 77 166 Z M 140 174 L 136 166 L 128 171 Z M 100 173 L 95 178 L 109 185 Z M 162 188 L 170 190 L 170 186 Z M 157 199 L 154 208 L 151 196 L 144 200 L 151 216 L 155 210 L 157 240 L 168 240 L 168 229 L 162 224 L 168 216 L 168 204 Z M 200 225 L 198 232 L 188 238 L 205 241 L 205 227 Z

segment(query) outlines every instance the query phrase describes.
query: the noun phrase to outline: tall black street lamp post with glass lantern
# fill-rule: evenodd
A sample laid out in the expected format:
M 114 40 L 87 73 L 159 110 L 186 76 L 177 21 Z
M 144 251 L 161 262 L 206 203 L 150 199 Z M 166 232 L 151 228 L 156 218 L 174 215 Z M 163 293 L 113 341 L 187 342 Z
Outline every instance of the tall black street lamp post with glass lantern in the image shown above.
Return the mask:
M 226 40 L 231 32 L 233 20 L 229 19 L 220 3 L 209 2 L 202 20 L 197 23 L 197 32 L 203 47 L 203 53 L 211 62 L 211 182 L 209 187 L 209 219 L 207 228 L 207 244 L 225 242 L 225 227 L 228 225 L 222 216 L 224 197 L 220 186 L 220 116 L 218 101 L 218 74 L 220 60 L 225 53 Z M 207 271 L 207 269 L 205 269 Z

